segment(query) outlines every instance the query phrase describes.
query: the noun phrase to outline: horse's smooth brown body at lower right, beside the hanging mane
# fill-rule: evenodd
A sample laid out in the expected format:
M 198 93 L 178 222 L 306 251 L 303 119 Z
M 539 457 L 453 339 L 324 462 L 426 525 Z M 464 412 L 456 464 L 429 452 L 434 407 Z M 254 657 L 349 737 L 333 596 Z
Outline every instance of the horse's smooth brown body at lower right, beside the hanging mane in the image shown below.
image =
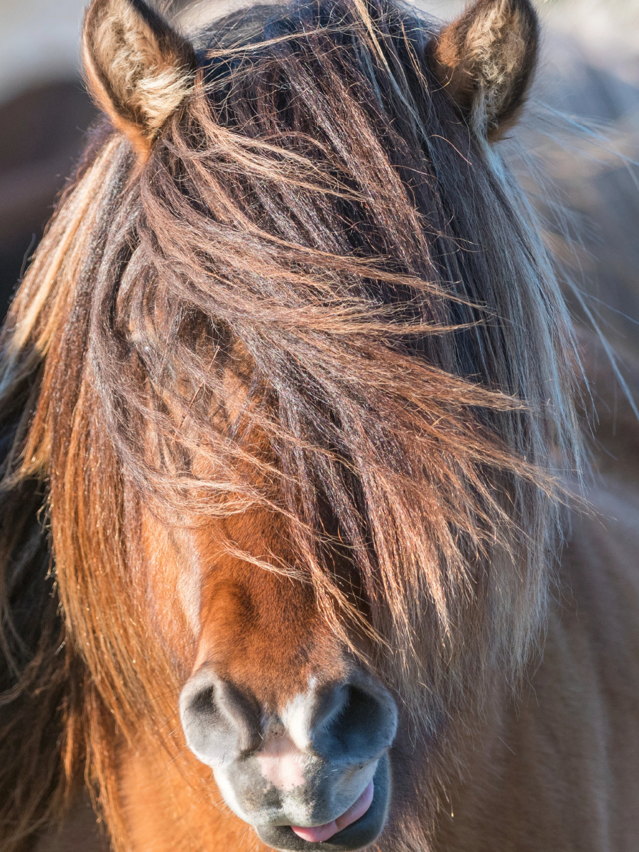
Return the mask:
M 639 423 L 592 342 L 585 364 L 599 416 L 590 512 L 573 515 L 543 658 L 521 700 L 486 719 L 442 852 L 639 844 Z M 636 394 L 636 365 L 629 383 Z

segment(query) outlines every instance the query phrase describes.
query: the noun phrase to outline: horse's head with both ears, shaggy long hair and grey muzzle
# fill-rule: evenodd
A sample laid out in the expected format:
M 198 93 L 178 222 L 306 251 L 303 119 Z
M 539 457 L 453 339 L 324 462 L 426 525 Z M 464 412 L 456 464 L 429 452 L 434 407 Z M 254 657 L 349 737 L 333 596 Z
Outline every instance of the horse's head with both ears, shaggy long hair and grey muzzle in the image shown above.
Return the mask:
M 39 377 L 21 475 L 49 483 L 93 696 L 67 715 L 113 837 L 113 743 L 139 738 L 275 849 L 425 837 L 458 731 L 516 682 L 579 455 L 569 321 L 495 147 L 537 50 L 529 0 L 443 29 L 260 6 L 191 39 L 90 4 L 110 124 L 14 302 L 5 387 Z

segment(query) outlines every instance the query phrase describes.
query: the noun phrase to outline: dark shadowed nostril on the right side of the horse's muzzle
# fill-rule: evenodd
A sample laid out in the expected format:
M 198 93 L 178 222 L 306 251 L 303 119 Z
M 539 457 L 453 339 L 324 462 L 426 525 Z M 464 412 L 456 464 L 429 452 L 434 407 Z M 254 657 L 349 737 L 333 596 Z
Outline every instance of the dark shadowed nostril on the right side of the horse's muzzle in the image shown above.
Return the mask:
M 392 745 L 396 730 L 397 707 L 391 695 L 361 675 L 325 696 L 311 740 L 314 751 L 332 763 L 366 763 Z

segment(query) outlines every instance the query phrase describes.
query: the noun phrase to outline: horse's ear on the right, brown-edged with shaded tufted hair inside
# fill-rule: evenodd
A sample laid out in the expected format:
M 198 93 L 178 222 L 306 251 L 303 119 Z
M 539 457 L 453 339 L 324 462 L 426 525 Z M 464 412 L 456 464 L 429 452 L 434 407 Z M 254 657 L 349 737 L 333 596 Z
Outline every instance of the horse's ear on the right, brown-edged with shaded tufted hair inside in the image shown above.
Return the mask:
M 515 124 L 538 46 L 530 0 L 478 0 L 435 37 L 435 74 L 479 135 L 496 141 Z

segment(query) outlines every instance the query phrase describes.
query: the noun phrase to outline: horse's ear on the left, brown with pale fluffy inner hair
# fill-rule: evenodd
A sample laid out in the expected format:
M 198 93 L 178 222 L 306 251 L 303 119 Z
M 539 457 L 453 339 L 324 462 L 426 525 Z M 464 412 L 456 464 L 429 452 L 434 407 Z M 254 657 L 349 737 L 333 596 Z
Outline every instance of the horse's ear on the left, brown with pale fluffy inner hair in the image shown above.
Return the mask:
M 143 0 L 93 0 L 84 16 L 89 90 L 144 159 L 193 87 L 190 43 Z

